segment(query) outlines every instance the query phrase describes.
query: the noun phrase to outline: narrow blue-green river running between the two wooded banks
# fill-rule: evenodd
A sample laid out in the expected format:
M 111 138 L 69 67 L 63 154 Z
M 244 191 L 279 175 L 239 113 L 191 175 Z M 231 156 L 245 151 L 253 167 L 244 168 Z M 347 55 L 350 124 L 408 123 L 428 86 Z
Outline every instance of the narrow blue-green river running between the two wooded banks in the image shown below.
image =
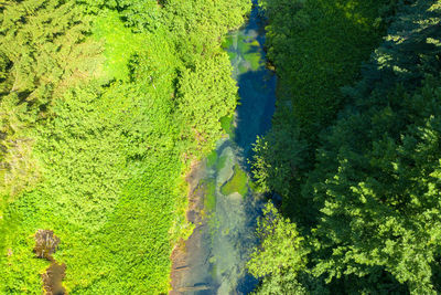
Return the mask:
M 247 273 L 246 262 L 258 243 L 256 220 L 263 200 L 252 192 L 247 159 L 256 137 L 270 128 L 275 112 L 276 76 L 266 69 L 263 43 L 263 23 L 255 4 L 246 25 L 225 42 L 239 105 L 229 136 L 200 168 L 201 219 L 186 243 L 186 271 L 175 282 L 174 294 L 248 294 L 258 283 Z

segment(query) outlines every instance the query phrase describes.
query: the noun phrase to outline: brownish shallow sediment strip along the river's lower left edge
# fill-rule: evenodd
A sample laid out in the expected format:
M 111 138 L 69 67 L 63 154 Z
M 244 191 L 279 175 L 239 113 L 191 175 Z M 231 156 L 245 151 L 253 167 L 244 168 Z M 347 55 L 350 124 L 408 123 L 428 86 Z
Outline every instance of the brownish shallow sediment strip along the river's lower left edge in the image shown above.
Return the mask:
M 203 259 L 203 249 L 201 246 L 202 231 L 201 226 L 205 226 L 203 220 L 205 186 L 202 179 L 205 177 L 206 164 L 195 162 L 192 165 L 185 180 L 189 183 L 189 208 L 186 210 L 186 220 L 195 225 L 193 233 L 186 241 L 181 240 L 173 249 L 171 291 L 170 295 L 184 294 L 192 291 L 208 289 L 208 286 L 187 286 L 185 277 L 192 272 L 195 265 L 198 265 L 198 260 Z M 191 250 L 191 251 L 189 251 Z

